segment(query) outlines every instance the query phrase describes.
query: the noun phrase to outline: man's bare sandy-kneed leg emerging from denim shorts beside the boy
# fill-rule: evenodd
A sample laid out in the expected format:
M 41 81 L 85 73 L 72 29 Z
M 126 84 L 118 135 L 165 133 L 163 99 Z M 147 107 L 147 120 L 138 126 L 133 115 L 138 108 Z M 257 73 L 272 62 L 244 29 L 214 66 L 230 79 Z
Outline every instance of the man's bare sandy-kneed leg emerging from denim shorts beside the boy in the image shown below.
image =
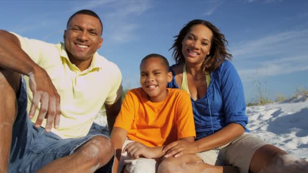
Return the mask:
M 68 156 L 48 163 L 37 172 L 94 172 L 107 164 L 114 155 L 109 139 L 96 136 Z

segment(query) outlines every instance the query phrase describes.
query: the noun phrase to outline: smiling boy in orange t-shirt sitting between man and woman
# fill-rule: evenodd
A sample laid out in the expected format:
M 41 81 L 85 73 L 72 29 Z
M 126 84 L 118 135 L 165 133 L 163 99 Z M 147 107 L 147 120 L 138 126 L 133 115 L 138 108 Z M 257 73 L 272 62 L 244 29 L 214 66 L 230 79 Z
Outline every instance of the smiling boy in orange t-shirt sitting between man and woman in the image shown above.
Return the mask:
M 181 90 L 167 89 L 171 79 L 165 57 L 150 54 L 142 59 L 142 88 L 127 93 L 111 133 L 116 150 L 113 172 L 123 169 L 124 160 L 129 163 L 124 172 L 155 172 L 159 164 L 156 160 L 165 154 L 165 145 L 176 140 L 195 140 L 190 97 Z

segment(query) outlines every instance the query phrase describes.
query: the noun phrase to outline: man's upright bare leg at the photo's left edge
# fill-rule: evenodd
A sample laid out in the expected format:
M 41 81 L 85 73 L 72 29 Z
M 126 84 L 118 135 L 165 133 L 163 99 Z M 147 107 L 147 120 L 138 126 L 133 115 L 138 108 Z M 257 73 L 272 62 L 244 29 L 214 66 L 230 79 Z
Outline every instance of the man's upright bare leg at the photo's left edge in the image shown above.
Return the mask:
M 0 172 L 8 172 L 21 74 L 0 68 Z

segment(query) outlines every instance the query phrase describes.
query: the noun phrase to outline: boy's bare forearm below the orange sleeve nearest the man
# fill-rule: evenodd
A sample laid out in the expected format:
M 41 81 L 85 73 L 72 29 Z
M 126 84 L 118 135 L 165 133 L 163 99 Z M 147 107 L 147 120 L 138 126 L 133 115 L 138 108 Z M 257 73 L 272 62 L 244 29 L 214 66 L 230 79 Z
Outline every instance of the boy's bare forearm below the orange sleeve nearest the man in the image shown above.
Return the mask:
M 115 158 L 114 158 L 114 163 L 112 167 L 112 172 L 118 171 L 118 166 L 119 166 L 121 153 L 122 153 L 122 146 L 125 142 L 126 136 L 127 136 L 127 131 L 124 128 L 113 127 L 111 135 L 110 135 L 110 139 L 115 148 Z

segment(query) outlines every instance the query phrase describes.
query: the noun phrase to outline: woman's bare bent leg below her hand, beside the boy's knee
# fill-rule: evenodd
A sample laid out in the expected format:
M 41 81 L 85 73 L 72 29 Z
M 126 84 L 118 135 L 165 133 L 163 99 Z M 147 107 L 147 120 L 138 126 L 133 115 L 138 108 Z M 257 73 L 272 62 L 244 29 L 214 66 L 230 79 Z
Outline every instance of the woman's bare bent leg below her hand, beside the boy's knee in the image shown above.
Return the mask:
M 225 173 L 225 172 L 240 172 L 238 168 L 233 166 L 213 166 L 202 161 L 195 154 L 186 154 L 180 157 L 165 158 L 158 166 L 158 173 L 161 172 L 210 172 L 210 173 Z

